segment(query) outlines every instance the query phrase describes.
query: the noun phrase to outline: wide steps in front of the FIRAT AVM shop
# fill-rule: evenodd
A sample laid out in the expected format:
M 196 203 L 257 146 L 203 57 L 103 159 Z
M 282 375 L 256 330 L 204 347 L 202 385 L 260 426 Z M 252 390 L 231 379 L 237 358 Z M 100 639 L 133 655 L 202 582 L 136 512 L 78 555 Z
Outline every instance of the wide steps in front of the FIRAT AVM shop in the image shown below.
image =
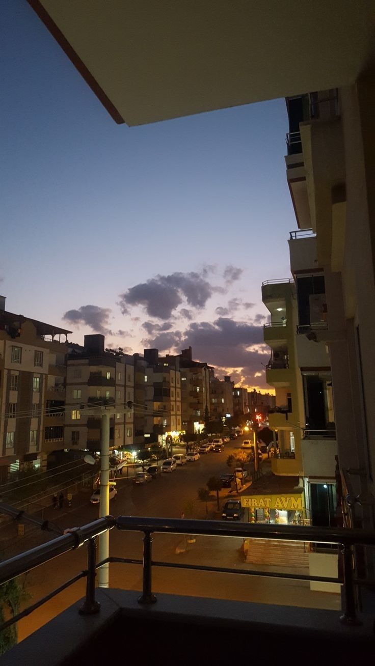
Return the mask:
M 309 543 L 276 539 L 246 539 L 246 562 L 285 567 L 308 567 Z

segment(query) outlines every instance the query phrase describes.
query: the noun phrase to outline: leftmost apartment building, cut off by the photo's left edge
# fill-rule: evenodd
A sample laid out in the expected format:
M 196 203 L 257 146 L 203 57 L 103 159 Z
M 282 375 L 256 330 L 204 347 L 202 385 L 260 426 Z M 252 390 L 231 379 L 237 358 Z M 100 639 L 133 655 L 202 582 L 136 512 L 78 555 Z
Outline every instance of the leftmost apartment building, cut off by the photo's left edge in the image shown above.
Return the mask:
M 20 468 L 45 468 L 49 452 L 64 446 L 70 332 L 7 312 L 0 296 L 1 482 Z

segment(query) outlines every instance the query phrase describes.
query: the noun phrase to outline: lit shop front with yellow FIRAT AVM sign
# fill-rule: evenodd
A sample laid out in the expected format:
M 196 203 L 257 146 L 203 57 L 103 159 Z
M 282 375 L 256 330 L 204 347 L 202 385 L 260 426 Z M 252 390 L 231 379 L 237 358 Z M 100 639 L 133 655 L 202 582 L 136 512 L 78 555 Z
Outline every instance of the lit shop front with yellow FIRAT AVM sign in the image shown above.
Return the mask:
M 244 520 L 249 523 L 303 525 L 306 521 L 304 494 L 248 495 L 241 498 Z

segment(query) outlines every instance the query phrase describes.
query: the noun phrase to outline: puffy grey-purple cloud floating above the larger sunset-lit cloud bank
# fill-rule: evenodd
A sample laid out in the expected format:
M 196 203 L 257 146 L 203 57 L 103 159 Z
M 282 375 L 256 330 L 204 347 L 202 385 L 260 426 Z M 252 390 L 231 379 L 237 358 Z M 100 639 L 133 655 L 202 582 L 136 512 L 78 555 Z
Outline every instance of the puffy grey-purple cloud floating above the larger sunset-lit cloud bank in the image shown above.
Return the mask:
M 169 319 L 184 300 L 194 308 L 204 308 L 214 288 L 199 273 L 175 272 L 157 275 L 141 282 L 120 295 L 121 311 L 129 312 L 129 306 L 143 306 L 147 314 L 159 319 Z

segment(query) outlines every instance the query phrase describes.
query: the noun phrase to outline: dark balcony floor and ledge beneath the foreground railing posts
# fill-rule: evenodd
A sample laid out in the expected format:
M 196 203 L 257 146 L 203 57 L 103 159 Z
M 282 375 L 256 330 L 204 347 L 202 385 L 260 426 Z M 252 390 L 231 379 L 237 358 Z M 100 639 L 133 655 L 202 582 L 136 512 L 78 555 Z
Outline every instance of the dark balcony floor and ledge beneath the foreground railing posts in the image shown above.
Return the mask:
M 78 602 L 4 655 L 1 666 L 29 666 L 31 655 L 49 666 L 96 666 L 119 655 L 140 665 L 202 663 L 208 646 L 216 663 L 232 663 L 233 653 L 256 654 L 258 647 L 262 661 L 287 651 L 315 665 L 324 651 L 325 661 L 340 655 L 344 665 L 374 646 L 372 617 L 346 627 L 336 611 L 163 594 L 141 606 L 137 596 L 97 591 L 100 613 L 79 615 Z

